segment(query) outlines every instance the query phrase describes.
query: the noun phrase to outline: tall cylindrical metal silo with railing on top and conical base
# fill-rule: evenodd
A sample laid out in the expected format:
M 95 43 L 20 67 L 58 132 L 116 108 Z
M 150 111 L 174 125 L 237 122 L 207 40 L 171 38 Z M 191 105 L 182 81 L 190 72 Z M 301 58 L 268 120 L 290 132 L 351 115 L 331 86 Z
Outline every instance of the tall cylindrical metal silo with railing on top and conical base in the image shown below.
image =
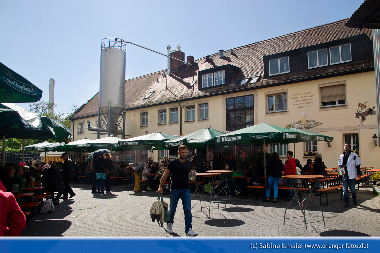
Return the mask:
M 111 133 L 117 132 L 117 122 L 125 106 L 125 50 L 122 39 L 101 41 L 99 110 Z

